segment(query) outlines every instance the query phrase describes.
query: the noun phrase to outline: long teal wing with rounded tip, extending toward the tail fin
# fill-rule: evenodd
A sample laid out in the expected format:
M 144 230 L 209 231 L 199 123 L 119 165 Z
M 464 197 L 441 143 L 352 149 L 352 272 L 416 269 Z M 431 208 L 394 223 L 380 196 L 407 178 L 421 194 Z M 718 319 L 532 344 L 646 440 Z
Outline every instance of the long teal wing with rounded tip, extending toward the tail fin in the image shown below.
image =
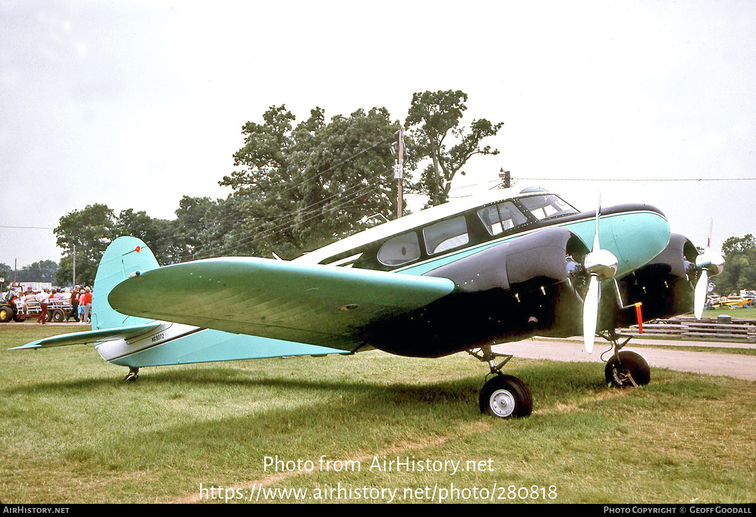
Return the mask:
M 351 350 L 373 321 L 453 290 L 447 278 L 225 257 L 132 275 L 108 302 L 132 316 Z

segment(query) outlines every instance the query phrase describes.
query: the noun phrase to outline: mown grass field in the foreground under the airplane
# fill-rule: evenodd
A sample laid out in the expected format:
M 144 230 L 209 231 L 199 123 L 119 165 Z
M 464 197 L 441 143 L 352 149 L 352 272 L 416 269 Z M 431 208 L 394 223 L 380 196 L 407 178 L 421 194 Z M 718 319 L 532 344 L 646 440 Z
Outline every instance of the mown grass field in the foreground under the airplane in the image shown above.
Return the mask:
M 327 502 L 352 503 L 387 489 L 405 503 L 444 490 L 454 503 L 756 500 L 754 382 L 654 368 L 648 386 L 616 390 L 600 364 L 515 359 L 534 413 L 501 421 L 479 413 L 487 368 L 466 354 L 154 367 L 127 383 L 89 346 L 5 351 L 73 327 L 0 325 L 2 503 L 193 502 L 200 484 L 254 500 L 261 483 L 309 503 L 330 489 Z M 361 469 L 321 472 L 323 455 Z M 266 471 L 276 456 L 313 472 Z M 476 470 L 371 470 L 384 456 Z

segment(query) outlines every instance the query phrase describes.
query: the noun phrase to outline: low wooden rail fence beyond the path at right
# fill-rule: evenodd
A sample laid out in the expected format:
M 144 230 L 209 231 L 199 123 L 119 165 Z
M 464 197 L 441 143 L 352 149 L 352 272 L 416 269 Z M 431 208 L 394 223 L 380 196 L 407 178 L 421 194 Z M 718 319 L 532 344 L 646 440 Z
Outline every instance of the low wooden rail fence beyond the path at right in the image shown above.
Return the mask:
M 638 335 L 638 326 L 622 329 L 621 333 Z M 696 320 L 695 317 L 673 317 L 643 324 L 646 337 L 677 337 L 680 339 L 712 339 L 731 342 L 756 342 L 756 320 L 739 318 Z

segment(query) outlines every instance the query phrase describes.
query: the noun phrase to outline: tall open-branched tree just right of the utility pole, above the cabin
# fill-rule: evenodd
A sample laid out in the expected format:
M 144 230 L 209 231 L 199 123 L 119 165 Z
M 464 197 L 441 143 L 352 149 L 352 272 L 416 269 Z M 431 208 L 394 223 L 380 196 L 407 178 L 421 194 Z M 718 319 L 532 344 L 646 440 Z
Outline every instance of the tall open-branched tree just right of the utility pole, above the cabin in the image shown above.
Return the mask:
M 457 175 L 464 175 L 461 169 L 467 160 L 476 154 L 498 154 L 491 146 L 481 147 L 483 138 L 495 136 L 503 122 L 491 124 L 487 119 L 473 120 L 470 131 L 459 127 L 463 111 L 467 109 L 467 94 L 463 91 L 424 91 L 412 97 L 412 103 L 404 122 L 406 128 L 412 128 L 411 134 L 423 156 L 428 156 L 431 163 L 415 185 L 417 190 L 430 197 L 431 205 L 440 205 L 448 201 L 451 180 Z M 457 144 L 447 150 L 447 138 Z

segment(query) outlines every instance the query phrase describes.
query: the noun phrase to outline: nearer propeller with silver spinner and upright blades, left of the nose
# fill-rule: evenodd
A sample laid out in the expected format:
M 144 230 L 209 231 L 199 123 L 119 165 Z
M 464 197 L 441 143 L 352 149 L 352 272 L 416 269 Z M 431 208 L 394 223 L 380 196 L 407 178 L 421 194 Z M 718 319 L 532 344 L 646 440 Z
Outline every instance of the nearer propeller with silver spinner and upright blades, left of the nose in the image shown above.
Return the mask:
M 596 207 L 596 234 L 593 237 L 593 248 L 585 255 L 583 265 L 590 281 L 583 302 L 583 342 L 585 351 L 593 354 L 593 342 L 596 340 L 596 324 L 599 319 L 599 298 L 601 281 L 609 280 L 617 272 L 617 257 L 608 249 L 601 249 L 599 243 L 599 217 L 601 213 L 601 194 Z

